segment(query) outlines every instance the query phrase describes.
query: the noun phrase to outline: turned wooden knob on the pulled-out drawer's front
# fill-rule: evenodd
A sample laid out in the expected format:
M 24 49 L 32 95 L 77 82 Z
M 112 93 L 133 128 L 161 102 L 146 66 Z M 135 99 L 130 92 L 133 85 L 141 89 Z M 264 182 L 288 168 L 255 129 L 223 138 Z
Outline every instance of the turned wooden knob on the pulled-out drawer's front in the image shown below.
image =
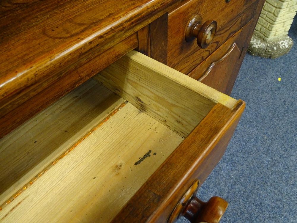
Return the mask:
M 211 197 L 207 202 L 203 202 L 195 196 L 198 190 L 199 181 L 184 194 L 174 208 L 168 223 L 175 222 L 180 216 L 184 216 L 191 223 L 218 223 L 223 216 L 228 202 L 220 197 Z

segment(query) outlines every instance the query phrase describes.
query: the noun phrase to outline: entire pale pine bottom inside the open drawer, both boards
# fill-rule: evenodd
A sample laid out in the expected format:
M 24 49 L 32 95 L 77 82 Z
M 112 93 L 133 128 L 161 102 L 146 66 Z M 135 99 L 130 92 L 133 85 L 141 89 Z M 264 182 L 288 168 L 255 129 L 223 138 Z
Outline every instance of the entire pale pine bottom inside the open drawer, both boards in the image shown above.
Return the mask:
M 0 140 L 0 222 L 110 222 L 183 140 L 90 79 Z

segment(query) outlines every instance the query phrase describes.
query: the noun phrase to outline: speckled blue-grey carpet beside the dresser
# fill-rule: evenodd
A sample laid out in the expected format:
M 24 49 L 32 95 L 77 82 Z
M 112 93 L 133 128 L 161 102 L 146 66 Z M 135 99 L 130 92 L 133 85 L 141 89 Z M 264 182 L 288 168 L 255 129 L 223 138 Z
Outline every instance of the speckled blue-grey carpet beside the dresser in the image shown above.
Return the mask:
M 231 96 L 246 109 L 198 191 L 201 200 L 229 202 L 221 223 L 297 222 L 297 18 L 289 36 L 289 54 L 274 60 L 247 54 L 236 79 Z

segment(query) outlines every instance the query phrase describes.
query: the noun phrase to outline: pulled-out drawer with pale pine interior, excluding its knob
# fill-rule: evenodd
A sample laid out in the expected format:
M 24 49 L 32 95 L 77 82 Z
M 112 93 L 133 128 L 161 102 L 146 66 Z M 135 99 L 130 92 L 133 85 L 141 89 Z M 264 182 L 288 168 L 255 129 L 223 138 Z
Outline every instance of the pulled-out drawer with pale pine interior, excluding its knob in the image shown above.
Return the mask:
M 132 51 L 0 140 L 0 222 L 166 222 L 243 110 Z

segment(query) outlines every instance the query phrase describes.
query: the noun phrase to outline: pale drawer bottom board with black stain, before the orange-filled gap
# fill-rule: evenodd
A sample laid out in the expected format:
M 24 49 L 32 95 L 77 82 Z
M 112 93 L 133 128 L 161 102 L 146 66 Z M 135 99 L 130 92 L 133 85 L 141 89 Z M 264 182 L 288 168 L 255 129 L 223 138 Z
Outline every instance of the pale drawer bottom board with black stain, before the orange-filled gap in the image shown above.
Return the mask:
M 110 222 L 182 140 L 128 103 L 3 208 L 0 221 Z

